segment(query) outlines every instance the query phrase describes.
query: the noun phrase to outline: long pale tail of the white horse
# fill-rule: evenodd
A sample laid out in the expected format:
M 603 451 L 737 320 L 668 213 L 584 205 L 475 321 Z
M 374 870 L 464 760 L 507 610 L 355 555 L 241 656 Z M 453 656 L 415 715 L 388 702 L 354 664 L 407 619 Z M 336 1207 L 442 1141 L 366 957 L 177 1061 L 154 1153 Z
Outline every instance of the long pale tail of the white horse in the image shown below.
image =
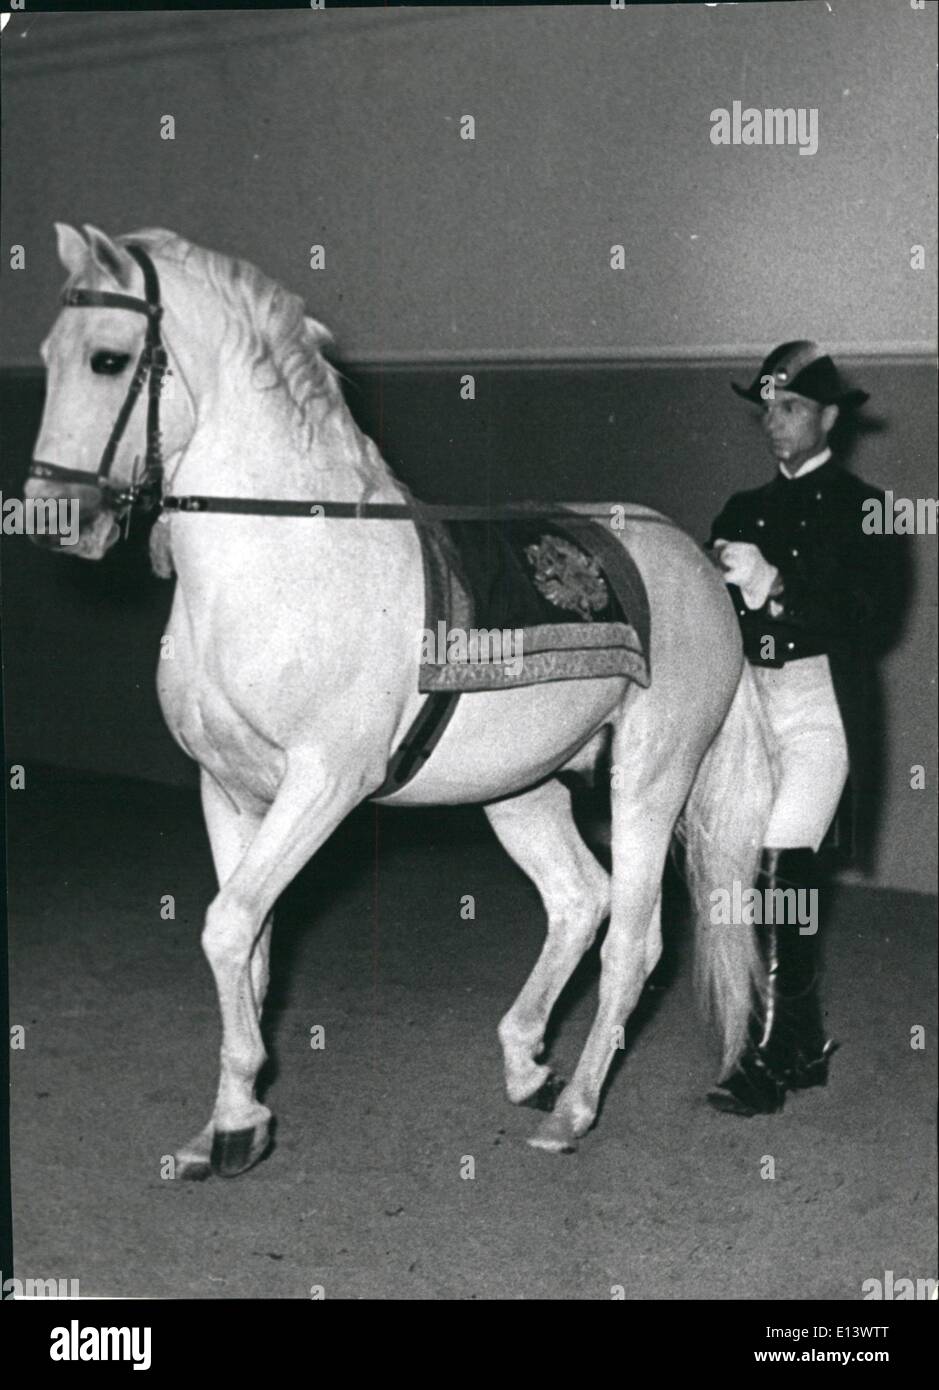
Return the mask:
M 756 931 L 732 919 L 733 903 L 760 872 L 774 784 L 771 739 L 745 662 L 726 717 L 697 770 L 681 833 L 695 912 L 695 983 L 721 1038 L 722 1076 L 743 1051 L 751 1011 L 765 997 Z

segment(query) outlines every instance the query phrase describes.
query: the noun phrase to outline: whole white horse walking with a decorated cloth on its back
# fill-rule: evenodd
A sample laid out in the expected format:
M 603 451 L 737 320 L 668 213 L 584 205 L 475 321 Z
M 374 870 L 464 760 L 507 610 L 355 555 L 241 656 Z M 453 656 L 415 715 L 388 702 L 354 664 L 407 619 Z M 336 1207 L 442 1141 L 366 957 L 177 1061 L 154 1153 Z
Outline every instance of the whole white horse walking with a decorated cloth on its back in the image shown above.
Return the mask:
M 133 246 L 156 268 L 164 306 L 174 385 L 160 398 L 167 492 L 407 505 L 356 427 L 321 354 L 328 335 L 300 299 L 171 232 L 117 240 L 90 227 L 57 232 L 71 297 L 42 349 L 49 388 L 38 441 L 38 459 L 56 464 L 33 467 L 28 495 L 78 499 L 81 538 L 69 553 L 100 559 L 118 539 L 115 496 L 133 495 L 144 452 L 146 411 L 122 410 L 142 343 L 153 342 L 153 317 L 144 328 L 144 314 L 129 311 L 153 297 Z M 108 435 L 106 480 L 99 460 Z M 710 915 L 715 888 L 749 887 L 757 874 L 772 796 L 758 702 L 724 582 L 663 521 L 629 509 L 617 532 L 649 592 L 649 688 L 600 678 L 464 695 L 422 770 L 382 798 L 482 802 L 540 892 L 547 935 L 499 1038 L 508 1098 L 553 1104 L 531 1138 L 549 1151 L 571 1151 L 593 1123 L 625 1022 L 658 960 L 663 869 L 682 808 L 697 980 L 725 1074 L 764 988 L 753 929 L 715 927 Z M 256 1080 L 272 908 L 339 821 L 381 788 L 426 698 L 418 694 L 421 552 L 414 525 L 382 518 L 178 512 L 164 513 L 154 534 L 169 541 L 178 575 L 160 701 L 201 770 L 219 884 L 203 933 L 222 1017 L 218 1094 L 208 1125 L 178 1150 L 176 1170 L 231 1176 L 268 1148 L 271 1111 Z M 607 745 L 611 874 L 578 834 L 557 777 L 589 771 Z M 596 1017 L 563 1084 L 540 1059 L 545 1030 L 607 917 Z

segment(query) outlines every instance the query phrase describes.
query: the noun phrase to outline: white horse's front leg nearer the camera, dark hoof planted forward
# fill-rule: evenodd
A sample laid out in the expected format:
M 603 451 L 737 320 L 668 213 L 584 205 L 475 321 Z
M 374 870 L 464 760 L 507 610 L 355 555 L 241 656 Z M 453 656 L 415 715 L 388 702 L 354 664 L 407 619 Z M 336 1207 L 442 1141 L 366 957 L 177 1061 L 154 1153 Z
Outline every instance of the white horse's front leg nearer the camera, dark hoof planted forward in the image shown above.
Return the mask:
M 339 751 L 292 752 L 269 810 L 260 823 L 240 831 L 247 841 L 240 852 L 239 831 L 226 824 L 224 798 L 203 794 L 213 852 L 218 840 L 221 859 L 228 867 L 231 858 L 233 867 L 208 906 L 203 931 L 222 1015 L 218 1095 L 210 1125 L 178 1155 L 185 1176 L 204 1176 L 207 1151 L 211 1168 L 233 1177 L 267 1150 L 271 1112 L 258 1102 L 256 1084 L 267 1056 L 261 1004 L 271 910 L 353 806 L 381 783 L 383 764 L 372 769 L 372 762 L 361 760 L 350 773 L 349 749 L 342 756 Z

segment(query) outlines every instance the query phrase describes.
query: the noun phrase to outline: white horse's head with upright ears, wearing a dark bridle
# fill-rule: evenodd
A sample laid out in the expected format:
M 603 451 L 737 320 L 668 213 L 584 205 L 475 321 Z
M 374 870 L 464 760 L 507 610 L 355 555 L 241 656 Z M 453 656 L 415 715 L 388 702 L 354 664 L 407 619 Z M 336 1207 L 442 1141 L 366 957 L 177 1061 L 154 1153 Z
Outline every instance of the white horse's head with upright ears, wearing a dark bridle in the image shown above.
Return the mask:
M 69 272 L 63 309 L 42 345 L 46 404 L 26 498 L 78 503 L 65 553 L 99 560 L 121 535 L 142 489 L 160 486 L 161 459 L 183 448 L 192 410 L 163 391 L 160 285 L 146 256 L 86 227 L 56 224 Z M 36 535 L 58 545 L 56 534 Z

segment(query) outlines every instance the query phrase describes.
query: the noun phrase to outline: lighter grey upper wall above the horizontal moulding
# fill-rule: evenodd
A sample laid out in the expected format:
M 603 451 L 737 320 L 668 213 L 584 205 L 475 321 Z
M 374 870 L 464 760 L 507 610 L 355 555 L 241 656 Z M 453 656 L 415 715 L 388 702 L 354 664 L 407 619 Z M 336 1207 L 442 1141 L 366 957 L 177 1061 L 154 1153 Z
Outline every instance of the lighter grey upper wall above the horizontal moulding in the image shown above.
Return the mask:
M 906 0 L 14 14 L 0 363 L 36 361 L 53 220 L 244 256 L 347 360 L 928 350 L 935 38 Z M 715 147 L 735 100 L 817 107 L 818 153 Z

